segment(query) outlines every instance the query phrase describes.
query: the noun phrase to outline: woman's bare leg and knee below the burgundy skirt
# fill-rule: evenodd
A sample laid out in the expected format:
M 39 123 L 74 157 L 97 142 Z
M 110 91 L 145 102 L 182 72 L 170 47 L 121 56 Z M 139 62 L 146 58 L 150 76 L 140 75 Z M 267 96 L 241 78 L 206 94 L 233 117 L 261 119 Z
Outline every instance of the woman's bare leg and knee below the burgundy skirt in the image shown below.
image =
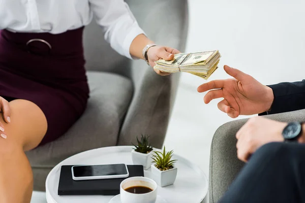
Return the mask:
M 31 101 L 10 102 L 11 123 L 3 115 L 7 139 L 0 138 L 0 202 L 28 203 L 33 192 L 33 173 L 24 151 L 35 148 L 47 130 L 41 109 Z

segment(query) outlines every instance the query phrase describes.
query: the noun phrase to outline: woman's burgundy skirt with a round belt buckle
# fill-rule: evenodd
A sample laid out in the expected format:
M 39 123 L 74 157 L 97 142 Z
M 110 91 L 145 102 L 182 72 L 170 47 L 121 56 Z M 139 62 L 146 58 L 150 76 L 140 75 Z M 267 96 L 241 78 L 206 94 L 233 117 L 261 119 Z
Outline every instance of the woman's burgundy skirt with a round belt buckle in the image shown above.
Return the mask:
M 40 145 L 62 136 L 86 108 L 82 34 L 83 27 L 58 35 L 0 32 L 0 96 L 40 107 L 48 122 Z

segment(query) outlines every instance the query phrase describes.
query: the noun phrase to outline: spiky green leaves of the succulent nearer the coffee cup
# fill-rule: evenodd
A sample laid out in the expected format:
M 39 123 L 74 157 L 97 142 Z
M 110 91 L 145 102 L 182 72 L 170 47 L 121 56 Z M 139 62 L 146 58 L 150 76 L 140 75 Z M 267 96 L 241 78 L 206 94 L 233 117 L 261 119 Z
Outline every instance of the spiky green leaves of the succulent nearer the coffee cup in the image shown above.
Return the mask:
M 173 154 L 173 150 L 170 152 L 165 152 L 165 146 L 163 148 L 163 153 L 162 152 L 158 152 L 155 151 L 155 154 L 153 155 L 153 163 L 156 163 L 155 166 L 157 168 L 159 168 L 160 171 L 166 171 L 166 170 L 170 170 L 171 168 L 174 167 L 174 163 L 177 160 L 171 160 L 172 158 L 172 154 Z

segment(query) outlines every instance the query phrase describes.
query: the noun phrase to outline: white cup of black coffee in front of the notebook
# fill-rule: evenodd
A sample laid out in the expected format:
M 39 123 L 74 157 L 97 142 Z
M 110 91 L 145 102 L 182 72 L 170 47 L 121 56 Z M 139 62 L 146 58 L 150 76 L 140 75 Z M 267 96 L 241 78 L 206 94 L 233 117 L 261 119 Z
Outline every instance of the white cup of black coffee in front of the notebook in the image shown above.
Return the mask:
M 134 186 L 148 187 L 153 191 L 135 194 L 125 190 Z M 154 180 L 145 177 L 131 177 L 125 179 L 120 184 L 120 199 L 121 203 L 155 203 L 157 199 L 157 183 Z

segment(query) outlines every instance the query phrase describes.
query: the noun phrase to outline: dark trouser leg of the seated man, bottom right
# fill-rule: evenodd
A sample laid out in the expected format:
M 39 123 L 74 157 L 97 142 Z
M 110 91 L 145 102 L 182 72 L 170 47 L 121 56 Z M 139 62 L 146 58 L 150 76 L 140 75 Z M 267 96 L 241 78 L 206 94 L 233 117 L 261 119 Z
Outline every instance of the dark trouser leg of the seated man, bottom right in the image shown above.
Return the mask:
M 220 202 L 305 202 L 305 145 L 269 143 L 259 148 Z

